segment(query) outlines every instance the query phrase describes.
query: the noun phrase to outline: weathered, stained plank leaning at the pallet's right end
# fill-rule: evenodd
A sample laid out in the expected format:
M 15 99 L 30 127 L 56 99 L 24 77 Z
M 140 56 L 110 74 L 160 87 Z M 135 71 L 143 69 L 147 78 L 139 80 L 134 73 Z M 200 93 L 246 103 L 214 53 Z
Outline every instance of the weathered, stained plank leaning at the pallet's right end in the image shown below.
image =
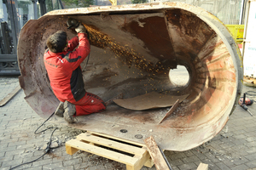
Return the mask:
M 154 161 L 154 166 L 157 170 L 170 169 L 166 163 L 165 158 L 162 156 L 158 145 L 156 144 L 153 136 L 144 139 L 145 144 L 148 147 L 148 152 Z

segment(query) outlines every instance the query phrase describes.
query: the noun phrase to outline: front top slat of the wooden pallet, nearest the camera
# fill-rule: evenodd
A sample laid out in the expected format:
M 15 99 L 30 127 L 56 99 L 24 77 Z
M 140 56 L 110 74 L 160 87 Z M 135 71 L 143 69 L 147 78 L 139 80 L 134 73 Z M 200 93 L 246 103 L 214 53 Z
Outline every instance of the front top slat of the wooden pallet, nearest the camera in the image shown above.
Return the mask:
M 84 142 L 79 141 L 78 139 L 71 139 L 66 142 L 67 146 L 76 148 L 78 150 L 84 150 L 90 152 L 91 154 L 95 154 L 97 156 L 106 157 L 113 161 L 119 161 L 121 163 L 125 163 L 126 165 L 133 166 L 137 162 L 136 157 L 125 156 L 123 154 L 117 153 L 113 150 L 107 150 L 95 145 L 86 144 Z

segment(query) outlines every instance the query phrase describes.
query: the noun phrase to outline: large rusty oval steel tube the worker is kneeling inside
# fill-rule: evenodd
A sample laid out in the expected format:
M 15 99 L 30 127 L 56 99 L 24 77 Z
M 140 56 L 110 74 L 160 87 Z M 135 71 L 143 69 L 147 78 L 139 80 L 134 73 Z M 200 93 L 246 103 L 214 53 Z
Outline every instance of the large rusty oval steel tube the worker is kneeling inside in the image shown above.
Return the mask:
M 67 29 L 69 18 L 83 23 L 90 34 L 90 57 L 81 64 L 87 92 L 104 101 L 120 93 L 124 99 L 152 92 L 188 97 L 161 123 L 170 107 L 133 111 L 113 104 L 101 113 L 77 116 L 73 124 L 57 116 L 53 121 L 138 143 L 152 135 L 164 150 L 189 150 L 212 139 L 229 120 L 241 95 L 239 48 L 220 20 L 185 3 L 70 8 L 29 20 L 18 42 L 20 87 L 39 116 L 47 118 L 59 104 L 49 85 L 44 50 L 55 31 L 67 31 L 69 39 L 76 36 Z M 169 77 L 177 65 L 189 73 L 182 86 Z

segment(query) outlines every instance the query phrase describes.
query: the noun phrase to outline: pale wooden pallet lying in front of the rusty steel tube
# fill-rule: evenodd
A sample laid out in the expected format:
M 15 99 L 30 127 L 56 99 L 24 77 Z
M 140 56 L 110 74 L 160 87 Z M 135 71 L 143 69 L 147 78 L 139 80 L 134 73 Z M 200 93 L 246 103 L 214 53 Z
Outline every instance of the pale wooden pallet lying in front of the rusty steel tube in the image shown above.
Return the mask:
M 124 163 L 127 170 L 139 170 L 143 166 L 153 167 L 154 165 L 146 145 L 102 133 L 81 133 L 77 139 L 66 142 L 67 154 L 73 155 L 78 150 Z

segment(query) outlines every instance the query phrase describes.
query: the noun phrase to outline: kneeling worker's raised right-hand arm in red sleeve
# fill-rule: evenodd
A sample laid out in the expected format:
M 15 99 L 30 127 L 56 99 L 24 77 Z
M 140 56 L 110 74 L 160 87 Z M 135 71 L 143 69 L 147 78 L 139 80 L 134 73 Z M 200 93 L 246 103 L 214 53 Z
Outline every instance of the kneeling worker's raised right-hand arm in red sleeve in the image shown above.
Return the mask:
M 76 70 L 90 54 L 90 43 L 85 33 L 78 33 L 79 47 L 73 52 L 70 51 L 65 55 L 65 59 L 69 62 L 73 70 Z

